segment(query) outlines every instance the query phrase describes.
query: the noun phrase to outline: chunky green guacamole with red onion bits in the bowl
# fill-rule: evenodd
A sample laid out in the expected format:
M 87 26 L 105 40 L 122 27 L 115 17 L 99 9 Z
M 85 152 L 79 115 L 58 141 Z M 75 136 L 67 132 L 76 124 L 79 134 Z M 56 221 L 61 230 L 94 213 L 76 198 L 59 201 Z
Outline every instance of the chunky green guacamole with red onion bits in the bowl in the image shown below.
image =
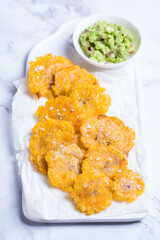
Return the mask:
M 79 38 L 85 54 L 99 63 L 119 63 L 134 53 L 134 39 L 124 27 L 98 21 L 85 29 Z

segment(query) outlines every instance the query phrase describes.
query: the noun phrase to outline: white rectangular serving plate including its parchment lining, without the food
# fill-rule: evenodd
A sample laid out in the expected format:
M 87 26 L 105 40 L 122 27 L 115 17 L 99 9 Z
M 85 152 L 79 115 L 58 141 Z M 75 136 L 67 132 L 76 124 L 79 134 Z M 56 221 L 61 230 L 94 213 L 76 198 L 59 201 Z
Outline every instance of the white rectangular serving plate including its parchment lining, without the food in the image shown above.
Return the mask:
M 107 115 L 120 117 L 125 124 L 136 131 L 136 144 L 129 154 L 129 167 L 137 171 L 147 183 L 146 156 L 141 143 L 141 118 L 139 90 L 135 63 L 116 70 L 97 69 L 85 63 L 71 44 L 71 35 L 80 19 L 68 22 L 48 38 L 37 44 L 30 52 L 29 62 L 46 53 L 67 57 L 74 64 L 93 72 L 106 87 L 112 103 Z M 32 127 L 37 123 L 34 113 L 46 99 L 35 99 L 28 90 L 27 79 L 15 83 L 18 91 L 13 100 L 13 131 L 19 172 L 22 180 L 22 204 L 26 218 L 37 222 L 128 222 L 142 219 L 148 209 L 148 193 L 133 203 L 114 202 L 108 209 L 90 216 L 76 210 L 67 194 L 49 186 L 47 178 L 38 173 L 28 159 L 28 145 Z M 147 184 L 146 184 L 147 185 Z

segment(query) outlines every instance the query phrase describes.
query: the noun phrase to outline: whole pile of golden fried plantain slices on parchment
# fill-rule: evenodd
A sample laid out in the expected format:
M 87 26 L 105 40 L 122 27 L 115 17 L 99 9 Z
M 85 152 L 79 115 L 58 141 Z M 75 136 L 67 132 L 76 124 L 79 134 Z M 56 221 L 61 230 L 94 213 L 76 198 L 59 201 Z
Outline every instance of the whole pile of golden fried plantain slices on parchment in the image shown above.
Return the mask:
M 30 63 L 29 88 L 49 98 L 36 111 L 30 159 L 77 209 L 98 213 L 112 200 L 131 202 L 144 192 L 143 179 L 128 169 L 135 132 L 105 115 L 111 99 L 93 74 L 48 54 Z

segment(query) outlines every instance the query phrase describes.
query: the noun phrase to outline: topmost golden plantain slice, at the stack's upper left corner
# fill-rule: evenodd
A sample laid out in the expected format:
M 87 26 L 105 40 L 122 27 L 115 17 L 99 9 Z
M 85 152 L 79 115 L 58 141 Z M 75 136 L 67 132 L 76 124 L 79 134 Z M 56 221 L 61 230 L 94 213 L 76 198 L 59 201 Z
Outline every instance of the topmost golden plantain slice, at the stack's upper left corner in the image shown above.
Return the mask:
M 51 86 L 54 84 L 55 73 L 64 67 L 71 66 L 72 62 L 61 56 L 47 54 L 30 62 L 29 88 L 38 98 L 53 97 Z

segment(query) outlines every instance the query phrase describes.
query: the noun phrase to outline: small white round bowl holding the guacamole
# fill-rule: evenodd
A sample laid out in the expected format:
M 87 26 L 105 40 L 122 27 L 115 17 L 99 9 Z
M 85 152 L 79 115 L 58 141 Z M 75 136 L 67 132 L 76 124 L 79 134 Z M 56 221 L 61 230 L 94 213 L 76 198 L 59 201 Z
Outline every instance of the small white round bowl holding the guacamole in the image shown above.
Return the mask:
M 89 26 L 93 25 L 98 20 L 100 20 L 100 21 L 105 20 L 107 23 L 116 23 L 116 24 L 121 25 L 121 26 L 125 27 L 126 29 L 128 29 L 134 37 L 135 53 L 133 55 L 131 55 L 127 60 L 120 62 L 120 63 L 98 63 L 98 62 L 94 62 L 94 61 L 90 60 L 86 56 L 86 54 L 83 52 L 83 50 L 80 46 L 79 37 L 80 37 L 81 32 L 83 32 Z M 84 60 L 89 62 L 90 64 L 100 67 L 100 68 L 118 68 L 118 67 L 128 63 L 131 59 L 133 59 L 135 57 L 135 55 L 137 54 L 137 52 L 140 48 L 140 45 L 141 45 L 141 34 L 140 34 L 139 30 L 137 29 L 137 27 L 135 27 L 130 21 L 128 21 L 124 18 L 121 18 L 118 16 L 100 14 L 100 15 L 94 15 L 94 16 L 85 18 L 76 27 L 76 29 L 73 33 L 73 44 L 74 44 L 75 49 L 79 53 L 79 55 Z

